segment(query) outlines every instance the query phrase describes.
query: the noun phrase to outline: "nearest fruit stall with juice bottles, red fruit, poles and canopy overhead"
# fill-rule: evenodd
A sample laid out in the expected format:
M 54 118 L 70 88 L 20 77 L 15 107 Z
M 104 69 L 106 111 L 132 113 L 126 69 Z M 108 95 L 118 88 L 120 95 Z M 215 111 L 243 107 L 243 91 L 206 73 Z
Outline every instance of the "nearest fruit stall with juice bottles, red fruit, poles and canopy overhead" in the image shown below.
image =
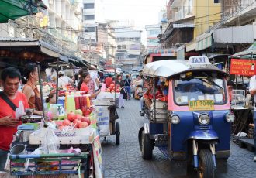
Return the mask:
M 57 70 L 61 61 L 70 62 L 54 46 L 38 39 L 2 38 L 0 54 L 3 68 L 17 67 L 22 70 L 26 63 L 37 63 L 42 100 L 45 90 L 42 88 L 43 77 L 40 71 L 54 61 Z M 102 177 L 101 148 L 96 129 L 97 113 L 93 112 L 88 96 L 76 93 L 74 88 L 66 86 L 64 91 L 58 91 L 57 82 L 51 83 L 49 87 L 50 91 L 56 91 L 56 98 L 62 94 L 63 102 L 57 104 L 60 100 L 56 99 L 56 104 L 51 104 L 48 109 L 44 107 L 43 116 L 33 115 L 33 109 L 26 109 L 26 116 L 22 117 L 23 125 L 19 126 L 16 140 L 12 144 L 11 150 L 18 152 L 11 151 L 11 174 L 84 173 L 86 177 L 93 174 Z M 21 108 L 21 112 L 24 113 L 24 109 Z M 23 145 L 25 149 L 19 152 L 21 149 L 16 145 Z

